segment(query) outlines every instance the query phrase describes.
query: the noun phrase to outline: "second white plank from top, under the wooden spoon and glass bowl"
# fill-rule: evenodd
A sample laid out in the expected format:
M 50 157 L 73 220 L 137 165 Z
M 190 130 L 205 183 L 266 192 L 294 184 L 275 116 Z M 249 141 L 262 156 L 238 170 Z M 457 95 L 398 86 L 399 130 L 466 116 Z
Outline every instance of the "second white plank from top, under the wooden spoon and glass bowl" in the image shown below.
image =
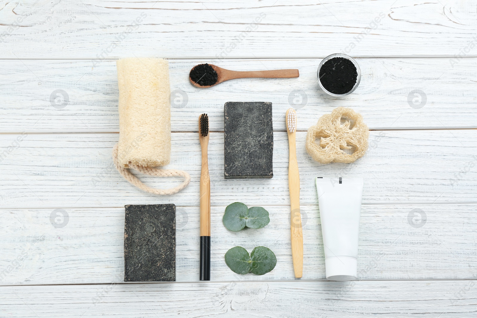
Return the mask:
M 316 82 L 320 61 L 227 60 L 219 65 L 232 70 L 298 68 L 301 76 L 240 79 L 199 89 L 187 80 L 188 72 L 210 61 L 171 60 L 172 130 L 197 131 L 197 115 L 207 112 L 210 129 L 223 131 L 224 103 L 230 101 L 272 102 L 274 129 L 281 131 L 289 107 L 297 109 L 298 130 L 306 131 L 335 106 L 362 113 L 370 129 L 477 127 L 477 92 L 469 80 L 477 59 L 454 66 L 448 59 L 359 59 L 360 86 L 338 99 Z M 0 132 L 119 131 L 114 60 L 96 67 L 85 60 L 0 60 L 0 82 Z

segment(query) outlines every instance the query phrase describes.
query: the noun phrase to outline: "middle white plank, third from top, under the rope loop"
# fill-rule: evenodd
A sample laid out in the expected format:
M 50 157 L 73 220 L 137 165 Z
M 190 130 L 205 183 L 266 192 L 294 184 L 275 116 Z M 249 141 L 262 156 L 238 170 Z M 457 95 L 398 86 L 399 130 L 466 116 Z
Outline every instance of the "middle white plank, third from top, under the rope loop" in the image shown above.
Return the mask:
M 353 164 L 328 165 L 314 162 L 306 153 L 305 135 L 297 133 L 302 205 L 317 203 L 316 176 L 363 177 L 364 204 L 476 203 L 475 130 L 373 131 L 370 148 L 363 158 Z M 192 181 L 183 191 L 169 196 L 145 193 L 116 171 L 111 152 L 117 139 L 118 134 L 114 133 L 1 134 L 2 207 L 198 205 L 200 147 L 197 133 L 172 134 L 168 167 L 187 171 Z M 223 133 L 210 134 L 212 205 L 228 205 L 244 198 L 249 205 L 289 204 L 285 132 L 274 133 L 274 176 L 271 179 L 225 180 L 223 144 Z M 155 177 L 143 180 L 160 188 L 181 181 Z

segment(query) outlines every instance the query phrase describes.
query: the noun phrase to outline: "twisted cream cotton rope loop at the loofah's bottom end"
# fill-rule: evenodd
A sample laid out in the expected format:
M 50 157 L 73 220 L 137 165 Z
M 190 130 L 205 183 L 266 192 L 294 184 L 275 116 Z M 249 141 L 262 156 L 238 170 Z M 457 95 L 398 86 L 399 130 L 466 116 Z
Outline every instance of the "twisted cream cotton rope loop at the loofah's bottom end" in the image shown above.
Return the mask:
M 185 178 L 184 182 L 181 185 L 178 185 L 174 188 L 166 189 L 166 190 L 151 188 L 150 186 L 145 185 L 134 174 L 132 174 L 129 171 L 129 169 L 123 168 L 119 165 L 118 144 L 116 144 L 113 148 L 113 161 L 114 161 L 114 165 L 116 166 L 116 169 L 124 177 L 124 179 L 129 181 L 131 184 L 137 186 L 139 189 L 155 194 L 155 195 L 173 195 L 179 192 L 180 190 L 184 189 L 190 182 L 190 175 L 185 171 L 174 170 L 174 169 L 158 169 L 154 167 L 143 167 L 143 166 L 134 165 L 134 164 L 129 165 L 129 168 L 135 169 L 136 171 L 140 173 L 149 174 L 155 177 L 181 176 Z

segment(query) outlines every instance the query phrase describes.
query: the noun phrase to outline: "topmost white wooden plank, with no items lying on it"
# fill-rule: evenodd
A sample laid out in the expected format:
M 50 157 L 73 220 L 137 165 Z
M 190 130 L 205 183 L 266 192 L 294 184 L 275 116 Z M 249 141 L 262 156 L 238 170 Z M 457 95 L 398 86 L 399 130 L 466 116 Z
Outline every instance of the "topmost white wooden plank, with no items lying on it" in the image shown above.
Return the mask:
M 0 57 L 10 59 L 476 56 L 471 1 L 39 0 L 0 9 Z

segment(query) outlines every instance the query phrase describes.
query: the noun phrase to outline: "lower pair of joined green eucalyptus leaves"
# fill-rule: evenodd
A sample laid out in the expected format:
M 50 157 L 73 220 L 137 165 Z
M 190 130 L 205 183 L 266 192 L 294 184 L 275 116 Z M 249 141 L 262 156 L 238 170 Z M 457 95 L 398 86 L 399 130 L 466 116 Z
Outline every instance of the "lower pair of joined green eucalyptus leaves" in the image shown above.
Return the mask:
M 245 248 L 235 246 L 225 253 L 225 263 L 237 274 L 245 275 L 252 272 L 263 275 L 275 268 L 277 257 L 265 246 L 255 247 L 250 255 Z

